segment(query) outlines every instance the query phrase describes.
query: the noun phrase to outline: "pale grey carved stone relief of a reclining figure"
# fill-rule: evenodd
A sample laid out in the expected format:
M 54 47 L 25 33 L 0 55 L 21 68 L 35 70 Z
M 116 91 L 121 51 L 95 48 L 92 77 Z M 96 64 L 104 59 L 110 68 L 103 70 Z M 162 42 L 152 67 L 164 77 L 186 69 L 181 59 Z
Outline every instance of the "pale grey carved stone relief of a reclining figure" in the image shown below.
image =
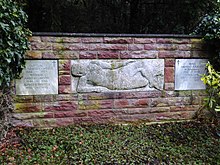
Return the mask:
M 164 60 L 73 60 L 73 92 L 162 89 Z

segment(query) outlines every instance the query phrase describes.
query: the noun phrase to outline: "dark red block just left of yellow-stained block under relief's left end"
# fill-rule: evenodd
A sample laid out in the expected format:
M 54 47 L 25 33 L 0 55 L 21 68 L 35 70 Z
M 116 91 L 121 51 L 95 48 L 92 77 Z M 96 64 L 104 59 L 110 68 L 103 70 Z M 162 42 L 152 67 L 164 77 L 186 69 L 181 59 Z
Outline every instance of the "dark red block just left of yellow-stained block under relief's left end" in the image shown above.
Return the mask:
M 45 111 L 76 111 L 77 103 L 75 101 L 60 101 L 44 104 Z

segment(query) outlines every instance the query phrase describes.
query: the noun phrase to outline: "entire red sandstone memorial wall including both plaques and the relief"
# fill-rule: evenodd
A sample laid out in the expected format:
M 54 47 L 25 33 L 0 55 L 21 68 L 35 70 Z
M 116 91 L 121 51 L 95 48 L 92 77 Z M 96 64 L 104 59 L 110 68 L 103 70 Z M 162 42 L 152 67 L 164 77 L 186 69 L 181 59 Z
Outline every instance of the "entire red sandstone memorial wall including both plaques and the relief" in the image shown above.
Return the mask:
M 185 120 L 202 105 L 208 51 L 200 38 L 64 35 L 30 38 L 14 125 Z

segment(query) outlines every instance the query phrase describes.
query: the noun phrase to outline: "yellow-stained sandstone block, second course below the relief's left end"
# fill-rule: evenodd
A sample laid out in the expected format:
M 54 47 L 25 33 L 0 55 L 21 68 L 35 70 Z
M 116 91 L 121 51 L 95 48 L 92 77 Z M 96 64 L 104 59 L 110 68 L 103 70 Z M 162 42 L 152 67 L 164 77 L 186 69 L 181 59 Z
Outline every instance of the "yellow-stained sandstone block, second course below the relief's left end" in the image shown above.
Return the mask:
M 92 110 L 92 109 L 109 109 L 113 108 L 113 100 L 80 100 L 79 110 Z

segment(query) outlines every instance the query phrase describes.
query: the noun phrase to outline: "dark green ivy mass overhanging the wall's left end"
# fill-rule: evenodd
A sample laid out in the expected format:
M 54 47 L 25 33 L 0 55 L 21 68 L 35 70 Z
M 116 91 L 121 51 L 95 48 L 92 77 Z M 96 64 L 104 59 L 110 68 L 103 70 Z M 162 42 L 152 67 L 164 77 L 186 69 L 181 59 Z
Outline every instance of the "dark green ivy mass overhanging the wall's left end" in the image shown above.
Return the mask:
M 0 0 L 0 88 L 9 87 L 25 66 L 28 50 L 27 15 L 17 2 Z

